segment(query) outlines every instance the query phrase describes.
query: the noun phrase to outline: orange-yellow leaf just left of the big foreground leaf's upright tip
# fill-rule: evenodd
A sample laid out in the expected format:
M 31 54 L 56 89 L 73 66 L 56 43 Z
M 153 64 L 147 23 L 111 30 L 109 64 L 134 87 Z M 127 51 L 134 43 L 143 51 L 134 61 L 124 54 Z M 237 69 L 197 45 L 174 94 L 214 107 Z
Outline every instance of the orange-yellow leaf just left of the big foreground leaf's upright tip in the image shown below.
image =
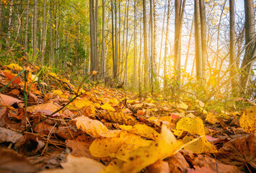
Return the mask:
M 133 128 L 128 130 L 130 133 L 135 133 L 138 136 L 143 136 L 145 138 L 156 140 L 158 138 L 159 133 L 154 130 L 154 128 L 149 127 L 148 125 L 138 124 L 134 125 Z

